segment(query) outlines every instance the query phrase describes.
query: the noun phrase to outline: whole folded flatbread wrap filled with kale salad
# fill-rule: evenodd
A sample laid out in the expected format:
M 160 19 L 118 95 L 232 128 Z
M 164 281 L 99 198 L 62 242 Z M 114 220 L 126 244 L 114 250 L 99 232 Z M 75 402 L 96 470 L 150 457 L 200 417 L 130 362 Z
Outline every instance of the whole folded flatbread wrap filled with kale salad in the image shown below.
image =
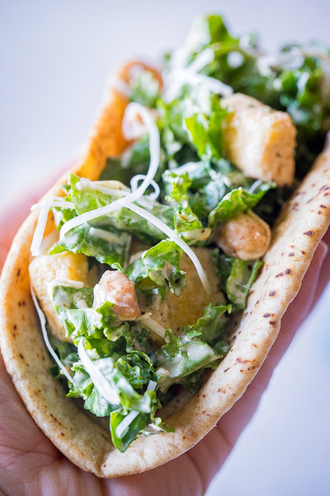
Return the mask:
M 1 274 L 6 368 L 77 466 L 180 455 L 266 359 L 330 222 L 329 59 L 242 48 L 214 15 L 112 79 Z

